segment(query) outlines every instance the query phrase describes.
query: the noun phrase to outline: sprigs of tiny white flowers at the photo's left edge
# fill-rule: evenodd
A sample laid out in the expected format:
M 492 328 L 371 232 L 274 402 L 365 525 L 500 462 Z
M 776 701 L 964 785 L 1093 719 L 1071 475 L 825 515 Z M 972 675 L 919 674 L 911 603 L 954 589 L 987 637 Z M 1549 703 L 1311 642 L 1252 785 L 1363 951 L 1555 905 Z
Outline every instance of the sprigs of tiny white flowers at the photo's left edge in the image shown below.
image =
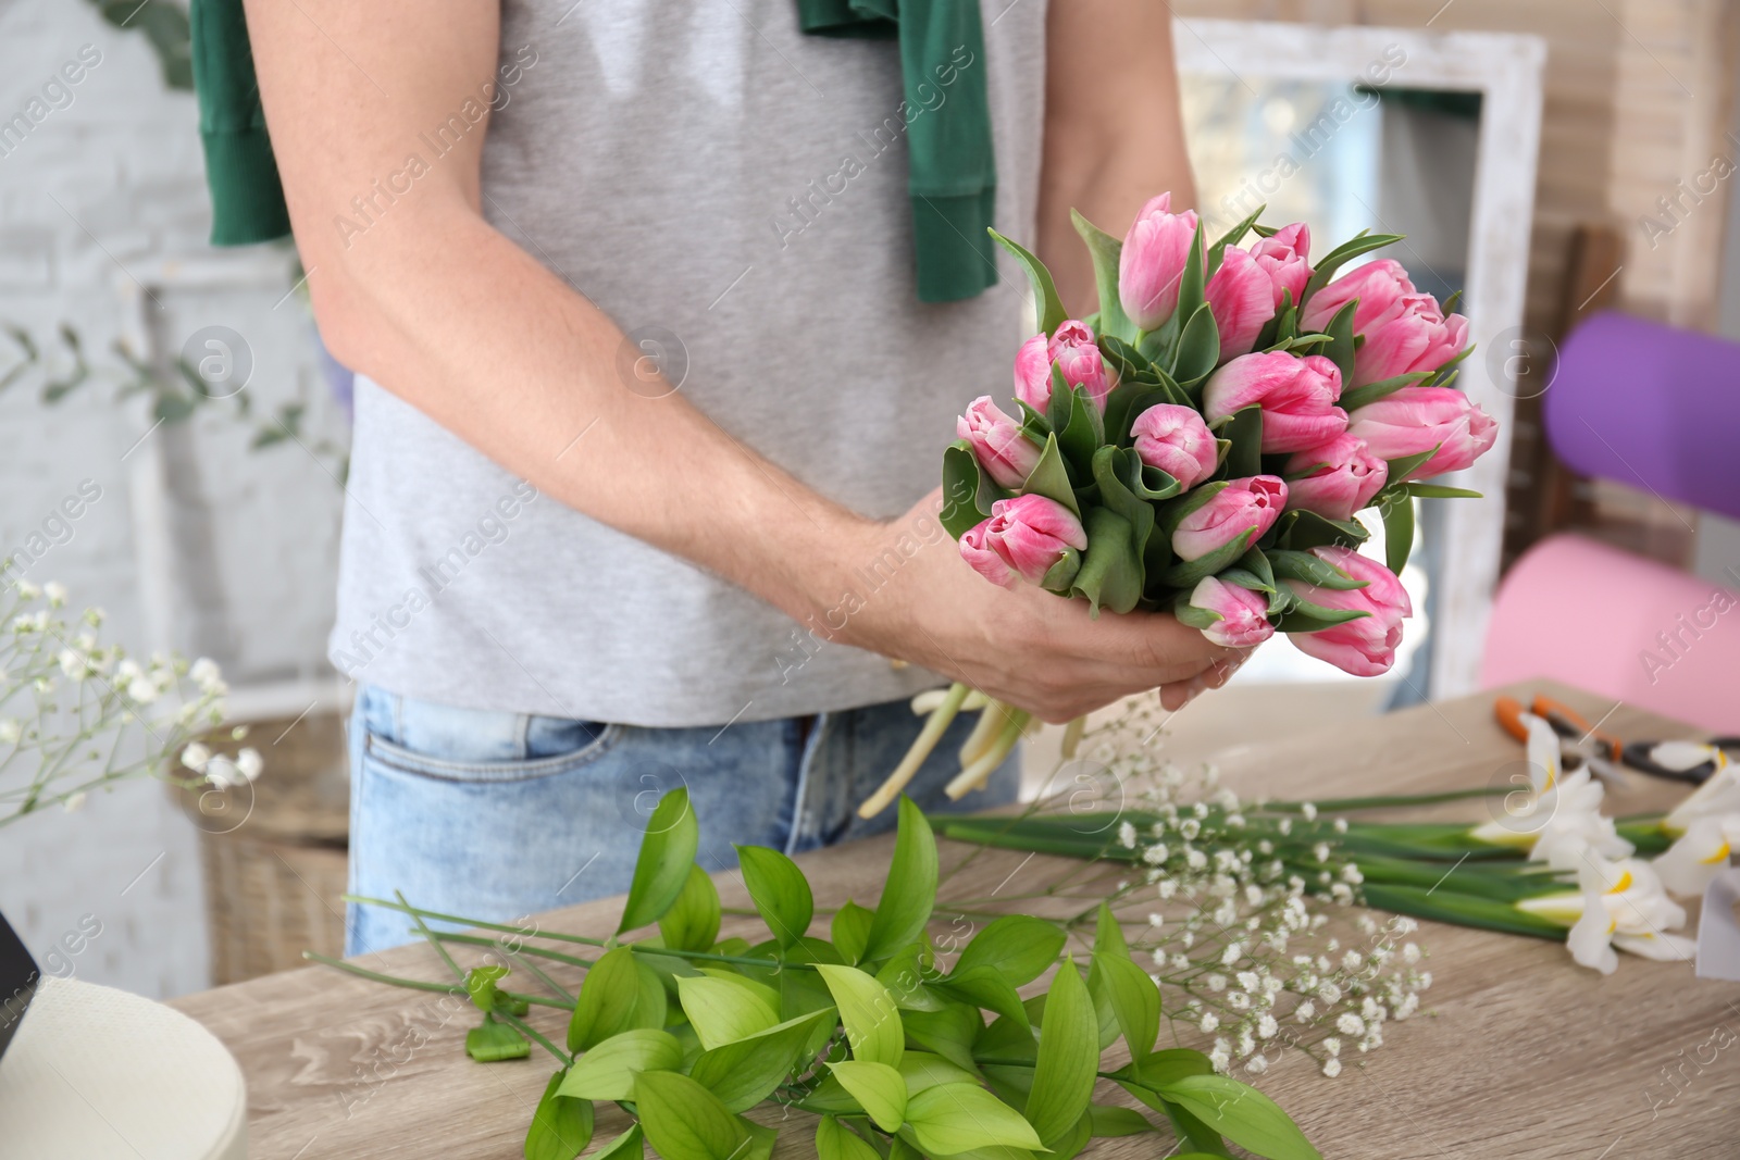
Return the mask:
M 0 826 L 132 777 L 224 790 L 259 776 L 256 750 L 204 741 L 224 718 L 218 664 L 134 659 L 101 642 L 101 609 L 64 609 L 56 583 L 12 579 L 0 595 Z

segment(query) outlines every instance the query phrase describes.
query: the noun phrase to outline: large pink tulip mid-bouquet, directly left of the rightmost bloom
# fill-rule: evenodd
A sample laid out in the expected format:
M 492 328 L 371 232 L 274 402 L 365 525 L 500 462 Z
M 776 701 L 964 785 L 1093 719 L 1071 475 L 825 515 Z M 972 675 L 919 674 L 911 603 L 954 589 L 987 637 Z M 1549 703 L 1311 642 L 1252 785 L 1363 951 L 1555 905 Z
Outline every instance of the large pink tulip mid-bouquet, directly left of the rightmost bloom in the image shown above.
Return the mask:
M 1241 355 L 1209 376 L 1202 417 L 1209 426 L 1249 405 L 1263 409 L 1263 454 L 1319 447 L 1347 430 L 1342 372 L 1322 355 Z

